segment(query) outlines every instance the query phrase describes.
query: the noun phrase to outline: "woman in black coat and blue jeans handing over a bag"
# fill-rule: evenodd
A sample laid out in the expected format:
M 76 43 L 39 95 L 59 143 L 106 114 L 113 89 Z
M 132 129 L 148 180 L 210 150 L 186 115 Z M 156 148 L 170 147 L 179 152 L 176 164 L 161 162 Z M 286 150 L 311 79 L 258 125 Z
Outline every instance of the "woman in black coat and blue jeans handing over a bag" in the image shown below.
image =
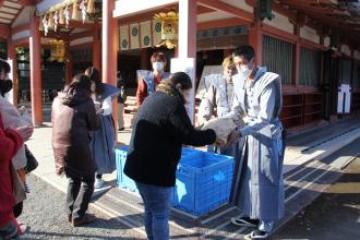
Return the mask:
M 132 132 L 124 172 L 136 182 L 145 205 L 148 239 L 168 239 L 170 194 L 182 144 L 203 146 L 216 141 L 213 130 L 195 130 L 184 104 L 192 83 L 187 73 L 164 80 L 141 106 Z

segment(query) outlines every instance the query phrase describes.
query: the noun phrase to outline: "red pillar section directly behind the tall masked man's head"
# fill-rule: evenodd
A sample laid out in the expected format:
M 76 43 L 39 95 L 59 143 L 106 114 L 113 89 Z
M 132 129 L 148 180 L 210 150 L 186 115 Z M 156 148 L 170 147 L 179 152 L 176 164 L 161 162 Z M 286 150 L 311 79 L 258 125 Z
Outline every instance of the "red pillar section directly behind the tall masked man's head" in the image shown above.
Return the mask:
M 256 64 L 262 64 L 263 57 L 263 34 L 261 29 L 261 22 L 255 20 L 249 28 L 249 45 L 255 50 Z

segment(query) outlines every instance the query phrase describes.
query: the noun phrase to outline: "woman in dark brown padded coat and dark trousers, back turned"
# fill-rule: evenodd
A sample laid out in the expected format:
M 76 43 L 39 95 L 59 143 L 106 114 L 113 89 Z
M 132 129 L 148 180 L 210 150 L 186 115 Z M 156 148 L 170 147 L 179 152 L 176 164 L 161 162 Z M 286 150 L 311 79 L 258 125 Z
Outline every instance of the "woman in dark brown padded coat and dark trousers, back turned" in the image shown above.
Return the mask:
M 91 81 L 74 77 L 52 103 L 52 148 L 58 175 L 69 178 L 67 212 L 74 227 L 95 220 L 86 214 L 94 192 L 96 164 L 89 148 L 89 131 L 98 129 L 91 98 Z

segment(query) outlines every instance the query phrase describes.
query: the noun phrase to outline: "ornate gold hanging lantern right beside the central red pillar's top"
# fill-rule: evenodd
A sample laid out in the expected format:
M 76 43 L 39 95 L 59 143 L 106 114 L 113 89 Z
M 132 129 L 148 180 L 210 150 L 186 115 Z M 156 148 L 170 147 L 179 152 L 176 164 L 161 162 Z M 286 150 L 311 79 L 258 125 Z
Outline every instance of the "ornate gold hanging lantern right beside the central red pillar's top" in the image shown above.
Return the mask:
M 177 46 L 179 14 L 175 11 L 160 12 L 154 19 L 161 21 L 161 41 L 156 47 L 166 46 L 171 49 Z

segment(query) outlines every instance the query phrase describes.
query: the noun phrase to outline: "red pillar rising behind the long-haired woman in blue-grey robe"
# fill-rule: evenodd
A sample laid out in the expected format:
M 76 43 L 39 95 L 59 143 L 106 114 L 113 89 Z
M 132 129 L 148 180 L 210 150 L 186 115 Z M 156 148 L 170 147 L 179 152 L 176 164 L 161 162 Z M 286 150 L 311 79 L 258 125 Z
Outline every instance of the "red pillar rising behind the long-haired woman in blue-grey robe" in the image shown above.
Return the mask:
M 118 21 L 112 17 L 115 0 L 103 1 L 103 47 L 101 47 L 101 76 L 103 82 L 110 85 L 117 85 L 118 68 Z M 117 121 L 117 101 L 112 101 L 112 118 Z M 118 129 L 116 123 L 116 130 Z M 117 135 L 117 134 L 116 134 Z

